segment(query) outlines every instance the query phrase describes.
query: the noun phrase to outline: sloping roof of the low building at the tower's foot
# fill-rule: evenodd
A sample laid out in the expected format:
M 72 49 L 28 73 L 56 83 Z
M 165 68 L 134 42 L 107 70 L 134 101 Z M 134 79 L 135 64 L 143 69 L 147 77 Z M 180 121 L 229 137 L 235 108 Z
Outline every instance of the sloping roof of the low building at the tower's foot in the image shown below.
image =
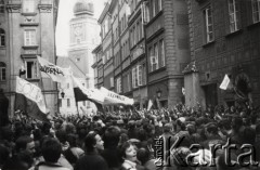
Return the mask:
M 74 61 L 69 57 L 64 56 L 57 56 L 57 66 L 63 68 L 70 67 L 73 70 L 73 74 L 77 78 L 86 78 L 84 73 L 74 63 Z

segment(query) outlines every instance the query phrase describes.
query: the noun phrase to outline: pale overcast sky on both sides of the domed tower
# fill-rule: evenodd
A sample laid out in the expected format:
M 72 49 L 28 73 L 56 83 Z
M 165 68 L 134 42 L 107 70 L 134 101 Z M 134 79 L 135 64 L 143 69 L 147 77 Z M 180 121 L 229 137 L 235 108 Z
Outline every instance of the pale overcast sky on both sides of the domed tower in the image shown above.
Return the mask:
M 57 56 L 67 56 L 69 43 L 69 21 L 74 17 L 73 9 L 78 0 L 61 0 L 57 14 L 56 25 L 56 54 Z M 99 18 L 104 2 L 107 0 L 93 0 L 94 17 Z

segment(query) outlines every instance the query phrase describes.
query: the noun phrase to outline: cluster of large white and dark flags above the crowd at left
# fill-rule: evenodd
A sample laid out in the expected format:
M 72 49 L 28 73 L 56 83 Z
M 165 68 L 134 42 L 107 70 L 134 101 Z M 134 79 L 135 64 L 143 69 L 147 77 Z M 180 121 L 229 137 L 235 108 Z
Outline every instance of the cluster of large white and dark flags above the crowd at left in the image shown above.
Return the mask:
M 123 95 L 119 95 L 105 88 L 95 89 L 84 88 L 78 78 L 74 77 L 73 71 L 69 68 L 58 67 L 41 56 L 37 56 L 39 62 L 40 71 L 47 74 L 53 81 L 65 83 L 67 79 L 72 79 L 75 100 L 77 102 L 90 101 L 93 102 L 98 109 L 102 109 L 102 105 L 133 105 L 133 99 L 129 99 Z M 16 77 L 16 96 L 15 96 L 15 110 L 20 109 L 26 112 L 29 116 L 39 119 L 47 120 L 49 109 L 46 106 L 44 97 L 41 89 L 25 79 Z

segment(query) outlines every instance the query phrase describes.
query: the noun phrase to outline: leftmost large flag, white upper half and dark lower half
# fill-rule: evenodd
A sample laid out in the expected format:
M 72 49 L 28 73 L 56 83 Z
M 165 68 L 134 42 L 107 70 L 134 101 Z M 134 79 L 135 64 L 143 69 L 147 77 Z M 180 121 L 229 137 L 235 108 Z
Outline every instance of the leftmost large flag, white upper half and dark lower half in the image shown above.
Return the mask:
M 20 77 L 16 77 L 15 110 L 27 113 L 30 117 L 47 121 L 48 109 L 41 89 Z

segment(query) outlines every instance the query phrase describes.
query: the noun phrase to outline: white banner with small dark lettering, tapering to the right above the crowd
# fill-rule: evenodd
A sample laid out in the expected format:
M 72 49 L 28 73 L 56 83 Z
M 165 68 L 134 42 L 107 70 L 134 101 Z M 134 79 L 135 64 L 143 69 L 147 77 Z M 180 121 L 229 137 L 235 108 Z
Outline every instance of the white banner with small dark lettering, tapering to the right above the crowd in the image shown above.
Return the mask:
M 112 104 L 123 104 L 123 105 L 133 105 L 133 99 L 129 99 L 123 95 L 119 95 L 113 91 L 107 90 L 106 88 L 102 87 L 100 89 L 102 93 L 105 95 L 105 105 L 112 105 Z

